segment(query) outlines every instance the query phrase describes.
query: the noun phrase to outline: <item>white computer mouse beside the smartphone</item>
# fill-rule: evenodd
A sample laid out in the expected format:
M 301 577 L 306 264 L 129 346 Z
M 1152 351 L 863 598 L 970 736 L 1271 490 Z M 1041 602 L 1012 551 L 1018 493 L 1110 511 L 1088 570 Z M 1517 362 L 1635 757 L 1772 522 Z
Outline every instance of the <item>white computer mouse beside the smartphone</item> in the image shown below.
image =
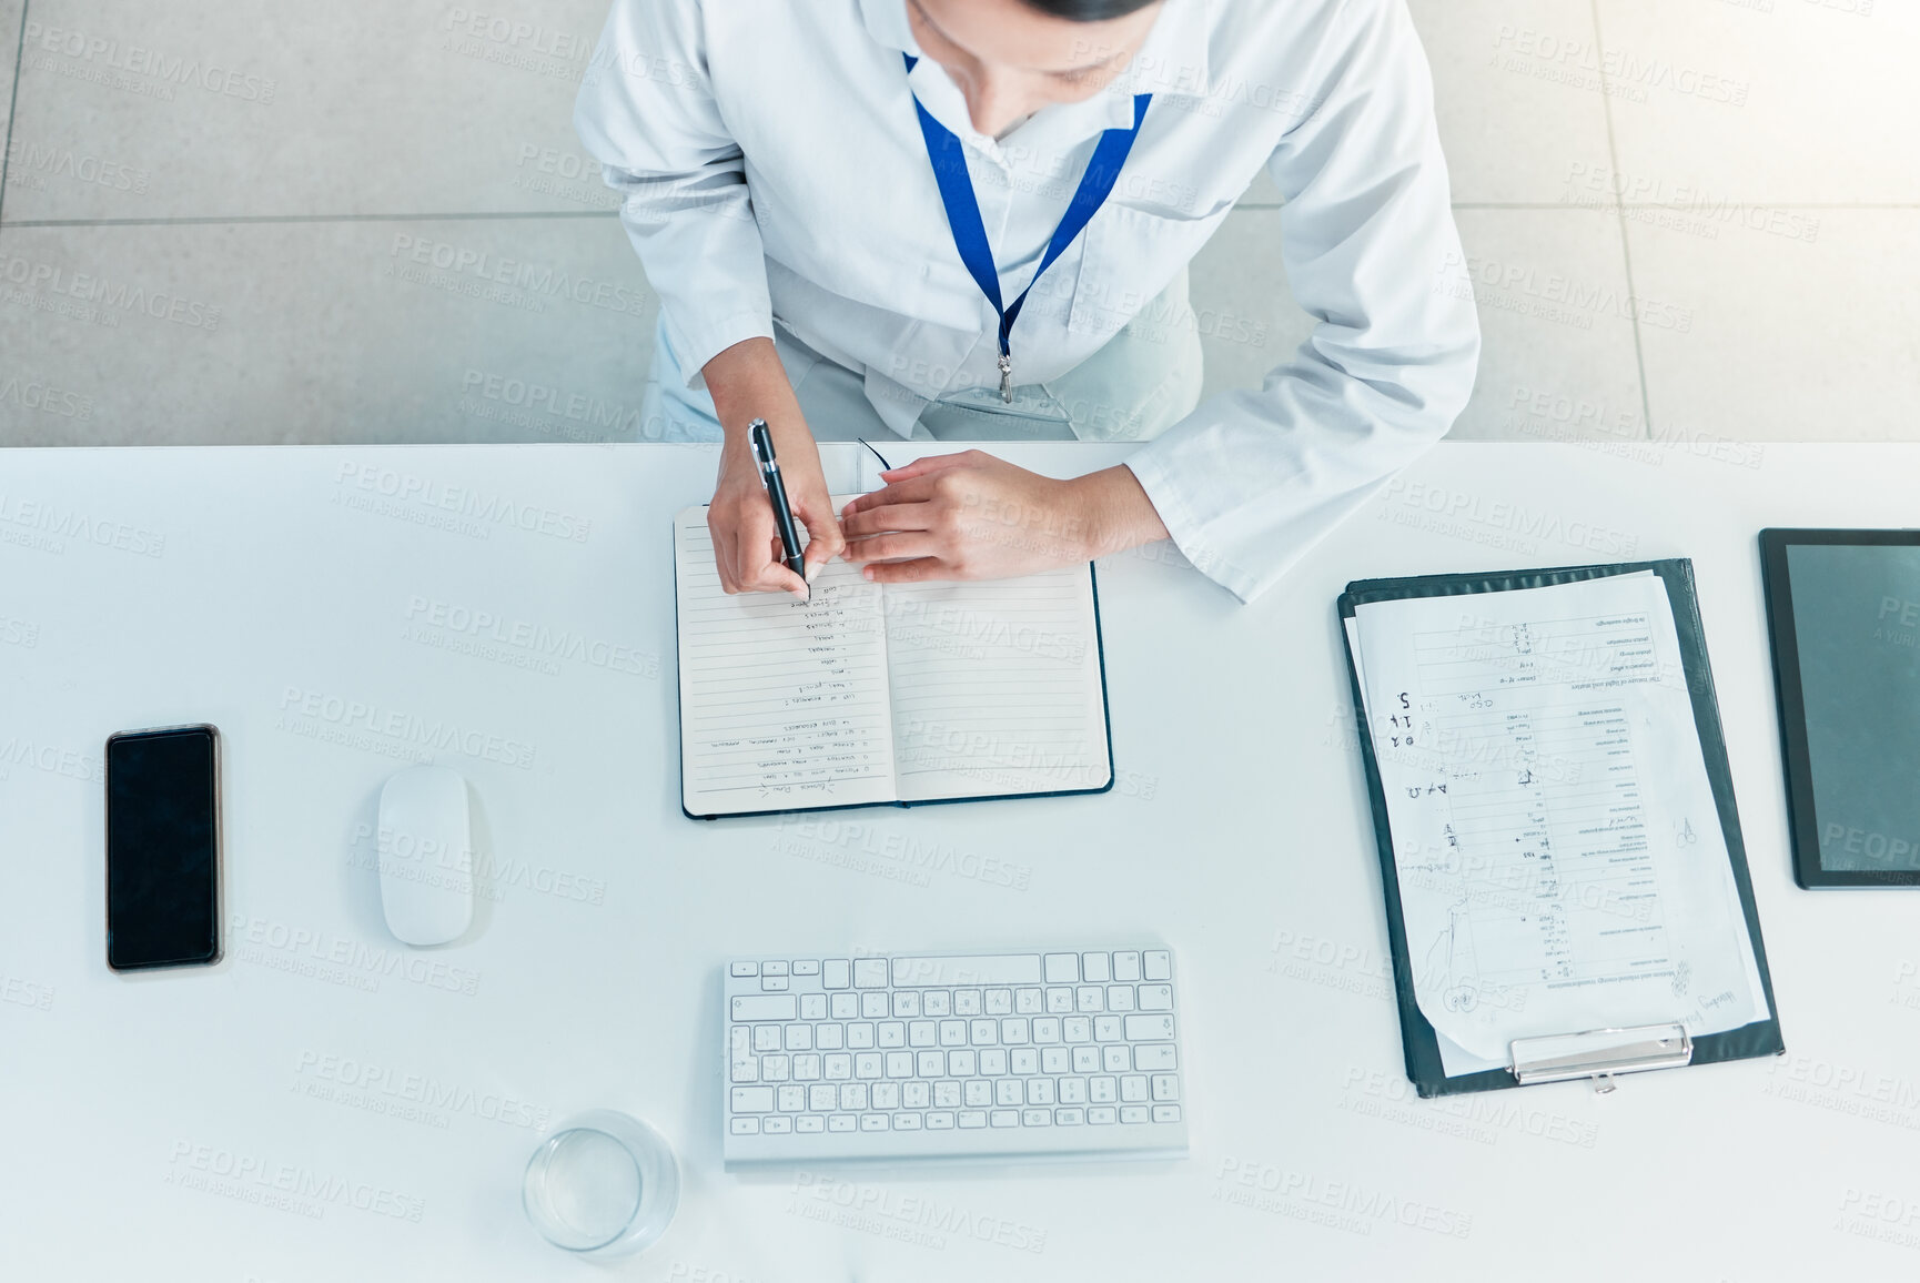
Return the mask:
M 405 945 L 444 945 L 474 920 L 467 780 L 409 766 L 380 789 L 380 908 Z

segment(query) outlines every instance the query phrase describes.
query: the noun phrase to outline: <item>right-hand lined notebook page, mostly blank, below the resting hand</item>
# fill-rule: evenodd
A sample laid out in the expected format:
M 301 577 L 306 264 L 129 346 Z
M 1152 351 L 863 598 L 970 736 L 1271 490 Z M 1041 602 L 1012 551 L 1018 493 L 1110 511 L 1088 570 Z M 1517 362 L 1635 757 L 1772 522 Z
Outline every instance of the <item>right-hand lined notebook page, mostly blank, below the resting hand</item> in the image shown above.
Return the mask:
M 902 801 L 1104 787 L 1114 778 L 1092 569 L 889 584 Z

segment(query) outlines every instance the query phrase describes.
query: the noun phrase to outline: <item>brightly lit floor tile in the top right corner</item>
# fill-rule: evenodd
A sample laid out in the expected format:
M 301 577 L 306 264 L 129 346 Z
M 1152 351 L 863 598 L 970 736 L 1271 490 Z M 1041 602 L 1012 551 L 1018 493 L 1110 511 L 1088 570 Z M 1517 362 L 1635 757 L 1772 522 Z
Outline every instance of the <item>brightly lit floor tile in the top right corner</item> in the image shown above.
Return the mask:
M 1628 198 L 1920 202 L 1920 4 L 1599 0 Z

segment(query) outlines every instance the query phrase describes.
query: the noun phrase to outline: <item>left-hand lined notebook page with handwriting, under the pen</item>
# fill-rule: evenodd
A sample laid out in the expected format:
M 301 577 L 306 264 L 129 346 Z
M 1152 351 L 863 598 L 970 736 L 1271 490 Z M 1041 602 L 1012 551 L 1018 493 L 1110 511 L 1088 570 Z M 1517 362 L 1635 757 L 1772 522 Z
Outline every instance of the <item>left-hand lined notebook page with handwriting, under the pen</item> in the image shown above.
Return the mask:
M 674 559 L 685 809 L 893 801 L 879 586 L 831 561 L 806 605 L 783 593 L 730 597 L 703 507 L 674 519 Z

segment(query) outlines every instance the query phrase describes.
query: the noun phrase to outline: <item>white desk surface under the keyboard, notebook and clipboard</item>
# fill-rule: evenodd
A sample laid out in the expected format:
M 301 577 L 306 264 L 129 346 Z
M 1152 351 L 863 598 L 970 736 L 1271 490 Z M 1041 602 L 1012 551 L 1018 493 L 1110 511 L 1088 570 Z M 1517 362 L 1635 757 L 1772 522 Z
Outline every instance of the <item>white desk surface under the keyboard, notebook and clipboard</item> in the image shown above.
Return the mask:
M 1920 895 L 1791 885 L 1755 532 L 1908 522 L 1920 449 L 1636 449 L 1442 446 L 1254 607 L 1112 559 L 1112 795 L 804 826 L 676 805 L 668 515 L 705 449 L 0 453 L 0 1273 L 605 1277 L 538 1241 L 518 1179 L 612 1106 L 684 1168 L 618 1277 L 1912 1277 Z M 1788 1056 L 1419 1102 L 1332 601 L 1653 555 L 1699 572 Z M 113 976 L 102 741 L 184 720 L 225 734 L 228 956 Z M 492 884 L 430 955 L 365 864 L 422 751 L 472 782 Z M 1129 932 L 1179 951 L 1187 1162 L 720 1170 L 728 955 Z

